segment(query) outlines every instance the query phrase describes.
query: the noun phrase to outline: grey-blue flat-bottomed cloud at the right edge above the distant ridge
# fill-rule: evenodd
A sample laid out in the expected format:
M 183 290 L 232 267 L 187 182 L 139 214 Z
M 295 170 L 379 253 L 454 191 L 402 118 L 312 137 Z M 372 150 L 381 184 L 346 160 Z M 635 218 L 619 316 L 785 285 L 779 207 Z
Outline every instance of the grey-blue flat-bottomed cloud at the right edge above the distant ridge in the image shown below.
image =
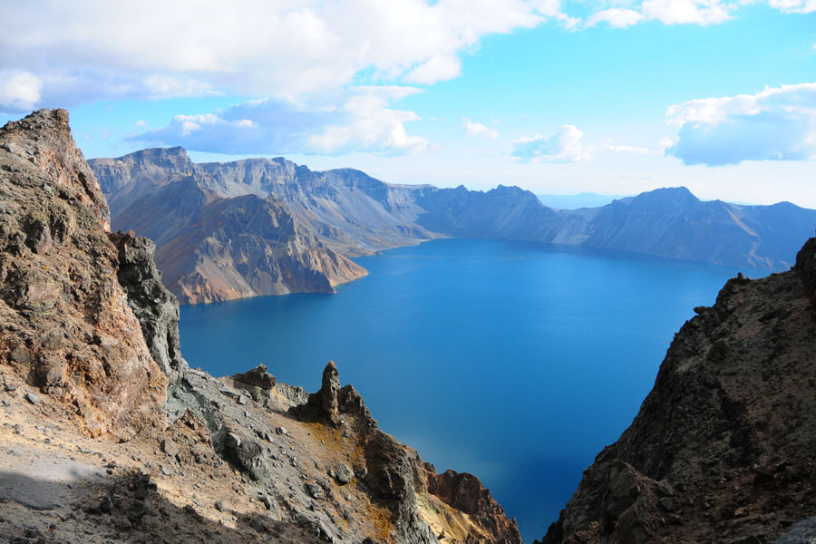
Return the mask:
M 685 164 L 816 159 L 816 83 L 670 106 L 678 139 L 666 149 Z

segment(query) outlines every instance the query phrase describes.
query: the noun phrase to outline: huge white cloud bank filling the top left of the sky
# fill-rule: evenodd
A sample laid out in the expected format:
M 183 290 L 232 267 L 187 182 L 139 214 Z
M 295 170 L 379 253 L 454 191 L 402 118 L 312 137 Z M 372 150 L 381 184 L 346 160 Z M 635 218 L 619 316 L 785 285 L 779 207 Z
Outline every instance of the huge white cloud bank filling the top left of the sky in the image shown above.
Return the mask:
M 341 89 L 363 71 L 377 83 L 432 84 L 460 75 L 461 55 L 485 35 L 548 19 L 568 24 L 558 0 L 33 0 L 5 10 L 0 69 L 35 78 L 41 92 L 23 92 L 18 77 L 19 96 L 4 90 L 2 105 L 219 92 L 293 99 Z

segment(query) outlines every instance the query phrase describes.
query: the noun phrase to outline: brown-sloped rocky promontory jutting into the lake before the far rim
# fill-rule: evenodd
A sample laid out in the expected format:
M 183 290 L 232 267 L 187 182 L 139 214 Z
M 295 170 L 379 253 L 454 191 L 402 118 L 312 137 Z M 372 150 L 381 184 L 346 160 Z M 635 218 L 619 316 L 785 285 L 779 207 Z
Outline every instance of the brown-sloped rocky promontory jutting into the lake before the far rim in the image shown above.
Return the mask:
M 366 274 L 326 248 L 275 197 L 220 198 L 194 176 L 153 188 L 115 225 L 156 241 L 165 285 L 184 304 L 332 293 Z

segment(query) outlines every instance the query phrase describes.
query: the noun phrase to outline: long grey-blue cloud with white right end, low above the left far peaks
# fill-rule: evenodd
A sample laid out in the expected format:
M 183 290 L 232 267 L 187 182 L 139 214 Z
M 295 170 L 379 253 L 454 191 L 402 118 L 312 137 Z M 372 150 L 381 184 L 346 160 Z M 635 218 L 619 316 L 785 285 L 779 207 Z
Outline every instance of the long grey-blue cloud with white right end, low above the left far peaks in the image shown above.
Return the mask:
M 253 100 L 203 115 L 177 115 L 168 126 L 131 140 L 231 154 L 423 151 L 428 142 L 408 134 L 403 124 L 419 117 L 392 107 L 415 92 L 419 90 L 410 87 L 358 87 L 325 103 Z

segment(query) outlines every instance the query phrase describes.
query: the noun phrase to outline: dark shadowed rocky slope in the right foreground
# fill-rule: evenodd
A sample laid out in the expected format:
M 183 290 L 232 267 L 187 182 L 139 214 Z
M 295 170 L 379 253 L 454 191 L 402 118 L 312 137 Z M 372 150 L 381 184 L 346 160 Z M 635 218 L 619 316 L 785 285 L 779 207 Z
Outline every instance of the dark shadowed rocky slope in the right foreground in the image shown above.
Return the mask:
M 542 542 L 761 543 L 816 514 L 814 287 L 811 238 L 791 271 L 695 308 Z

